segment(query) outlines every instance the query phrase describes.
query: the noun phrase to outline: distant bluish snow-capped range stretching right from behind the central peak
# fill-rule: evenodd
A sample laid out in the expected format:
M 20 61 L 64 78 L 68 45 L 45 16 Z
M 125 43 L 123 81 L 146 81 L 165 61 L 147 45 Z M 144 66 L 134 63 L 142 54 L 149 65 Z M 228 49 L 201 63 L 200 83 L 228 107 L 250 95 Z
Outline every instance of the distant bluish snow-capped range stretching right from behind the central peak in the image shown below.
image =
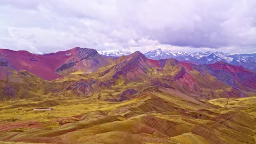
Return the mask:
M 169 59 L 174 58 L 179 61 L 192 61 L 196 64 L 213 64 L 217 61 L 224 61 L 232 65 L 241 65 L 247 69 L 256 71 L 256 53 L 234 54 L 222 52 L 200 52 L 189 54 L 187 52 L 172 52 L 160 48 L 144 54 L 149 59 Z

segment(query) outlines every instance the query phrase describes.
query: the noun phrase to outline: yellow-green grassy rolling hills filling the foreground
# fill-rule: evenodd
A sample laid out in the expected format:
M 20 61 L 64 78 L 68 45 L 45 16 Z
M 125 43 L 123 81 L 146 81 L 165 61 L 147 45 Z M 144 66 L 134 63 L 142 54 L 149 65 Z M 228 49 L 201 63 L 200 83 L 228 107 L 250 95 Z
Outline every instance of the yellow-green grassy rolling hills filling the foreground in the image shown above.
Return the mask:
M 256 97 L 200 101 L 154 87 L 122 102 L 99 100 L 98 95 L 5 101 L 0 103 L 0 141 L 253 144 L 255 101 Z

